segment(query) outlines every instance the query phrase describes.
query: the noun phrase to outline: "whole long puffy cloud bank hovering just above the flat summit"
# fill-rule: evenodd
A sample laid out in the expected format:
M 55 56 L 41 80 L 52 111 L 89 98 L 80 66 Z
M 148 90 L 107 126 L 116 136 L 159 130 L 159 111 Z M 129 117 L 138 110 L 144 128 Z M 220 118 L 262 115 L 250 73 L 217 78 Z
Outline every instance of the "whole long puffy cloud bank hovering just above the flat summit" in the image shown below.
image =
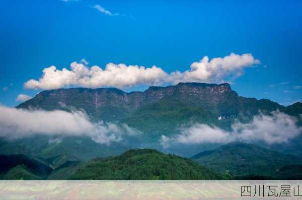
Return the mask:
M 91 68 L 86 62 L 72 62 L 70 70 L 59 70 L 49 66 L 43 70 L 39 80 L 31 79 L 24 84 L 27 89 L 57 89 L 69 86 L 87 88 L 117 87 L 130 88 L 137 85 L 177 84 L 179 82 L 221 83 L 225 78 L 236 78 L 244 73 L 244 69 L 259 64 L 252 54 L 238 55 L 231 53 L 225 57 L 209 60 L 204 56 L 200 61 L 193 62 L 185 72 L 175 71 L 170 74 L 163 69 L 152 66 L 145 68 L 138 65 L 108 63 L 105 69 L 94 65 Z

